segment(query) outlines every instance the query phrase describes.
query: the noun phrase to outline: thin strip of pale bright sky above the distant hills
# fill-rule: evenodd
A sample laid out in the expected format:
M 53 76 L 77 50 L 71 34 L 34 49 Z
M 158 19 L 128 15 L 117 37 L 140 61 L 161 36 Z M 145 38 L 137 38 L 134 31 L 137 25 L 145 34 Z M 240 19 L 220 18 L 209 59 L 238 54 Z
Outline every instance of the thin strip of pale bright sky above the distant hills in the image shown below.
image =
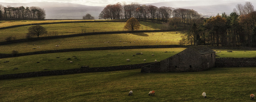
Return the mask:
M 132 2 L 138 2 L 140 4 L 157 3 L 166 1 L 188 1 L 188 0 L 0 0 L 0 2 L 6 3 L 29 3 L 29 2 L 69 2 L 76 4 L 83 4 L 89 6 L 103 6 L 108 4 L 115 4 L 117 2 L 130 4 Z

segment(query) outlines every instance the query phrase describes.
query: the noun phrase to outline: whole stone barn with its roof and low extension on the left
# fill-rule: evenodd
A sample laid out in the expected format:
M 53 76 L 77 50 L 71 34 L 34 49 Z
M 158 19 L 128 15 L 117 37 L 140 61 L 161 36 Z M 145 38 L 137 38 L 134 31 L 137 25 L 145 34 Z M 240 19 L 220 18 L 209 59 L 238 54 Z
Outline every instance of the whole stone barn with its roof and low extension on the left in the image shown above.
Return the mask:
M 141 72 L 191 72 L 215 66 L 215 51 L 206 46 L 189 47 L 165 60 L 141 68 Z

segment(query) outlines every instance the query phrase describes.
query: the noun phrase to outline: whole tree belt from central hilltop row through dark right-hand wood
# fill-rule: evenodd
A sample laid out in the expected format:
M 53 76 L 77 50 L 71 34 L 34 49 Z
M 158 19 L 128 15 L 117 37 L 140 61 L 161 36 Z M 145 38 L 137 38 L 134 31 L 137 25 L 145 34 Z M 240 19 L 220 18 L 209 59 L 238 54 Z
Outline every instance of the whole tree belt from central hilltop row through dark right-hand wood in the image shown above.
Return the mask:
M 169 27 L 184 27 L 181 45 L 247 46 L 256 47 L 256 11 L 251 2 L 237 4 L 229 15 L 203 17 L 186 8 L 156 7 L 154 5 L 109 4 L 99 14 L 99 19 L 151 20 Z

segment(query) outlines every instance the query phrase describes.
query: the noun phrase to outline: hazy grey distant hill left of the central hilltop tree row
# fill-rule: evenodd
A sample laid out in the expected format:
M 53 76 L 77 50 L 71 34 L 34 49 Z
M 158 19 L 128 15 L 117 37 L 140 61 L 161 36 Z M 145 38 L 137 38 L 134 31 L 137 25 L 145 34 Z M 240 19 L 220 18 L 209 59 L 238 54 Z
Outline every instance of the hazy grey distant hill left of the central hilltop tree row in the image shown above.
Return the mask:
M 2 3 L 7 6 L 39 6 L 44 8 L 46 12 L 45 19 L 82 19 L 83 15 L 89 13 L 98 19 L 100 12 L 104 7 L 87 6 L 74 3 L 60 3 L 60 2 L 31 2 L 31 3 Z

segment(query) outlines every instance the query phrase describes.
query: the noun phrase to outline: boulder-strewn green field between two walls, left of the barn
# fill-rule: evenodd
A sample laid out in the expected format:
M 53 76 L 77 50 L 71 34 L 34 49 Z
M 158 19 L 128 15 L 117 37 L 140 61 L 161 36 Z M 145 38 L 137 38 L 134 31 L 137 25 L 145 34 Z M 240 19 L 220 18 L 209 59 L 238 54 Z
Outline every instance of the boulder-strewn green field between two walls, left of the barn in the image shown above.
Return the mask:
M 48 70 L 63 70 L 80 68 L 81 66 L 89 67 L 104 67 L 104 66 L 118 66 L 130 65 L 139 63 L 149 63 L 155 60 L 163 60 L 185 48 L 164 48 L 164 49 L 125 49 L 125 50 L 99 50 L 99 51 L 76 51 L 76 52 L 62 52 L 37 54 L 12 58 L 0 59 L 0 75 L 12 73 L 24 73 L 34 71 L 48 71 Z M 168 51 L 167 53 L 165 53 Z M 143 53 L 143 55 L 135 55 L 136 53 Z M 124 54 L 122 54 L 124 53 Z M 111 55 L 108 55 L 111 54 Z M 151 56 L 154 54 L 155 56 Z M 75 59 L 72 56 L 76 56 Z M 60 57 L 60 58 L 56 58 Z M 67 60 L 71 58 L 71 60 Z M 126 59 L 130 59 L 127 62 Z M 146 62 L 143 60 L 146 59 Z M 3 63 L 10 61 L 8 63 Z M 69 62 L 73 61 L 73 64 Z M 40 63 L 37 63 L 40 62 Z M 13 70 L 18 68 L 17 70 Z M 47 70 L 43 70 L 47 69 Z

